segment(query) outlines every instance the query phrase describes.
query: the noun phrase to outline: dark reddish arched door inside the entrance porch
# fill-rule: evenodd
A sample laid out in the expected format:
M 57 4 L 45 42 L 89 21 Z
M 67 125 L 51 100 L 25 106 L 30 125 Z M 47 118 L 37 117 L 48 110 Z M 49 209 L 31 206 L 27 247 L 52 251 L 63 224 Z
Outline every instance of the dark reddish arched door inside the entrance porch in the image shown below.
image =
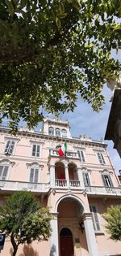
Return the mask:
M 74 256 L 73 234 L 69 228 L 60 231 L 60 256 Z

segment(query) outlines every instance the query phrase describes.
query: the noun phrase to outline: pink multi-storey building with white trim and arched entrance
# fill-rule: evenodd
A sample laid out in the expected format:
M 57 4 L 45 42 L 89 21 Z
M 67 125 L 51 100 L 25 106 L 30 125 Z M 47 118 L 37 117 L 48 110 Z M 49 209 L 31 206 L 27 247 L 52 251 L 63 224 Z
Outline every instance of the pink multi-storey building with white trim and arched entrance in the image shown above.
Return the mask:
M 14 191 L 35 194 L 53 218 L 49 241 L 19 245 L 17 256 L 116 256 L 102 214 L 119 205 L 121 187 L 106 144 L 72 137 L 69 122 L 45 118 L 40 132 L 20 128 L 17 137 L 0 127 L 0 203 Z M 66 155 L 57 149 L 67 143 Z M 11 255 L 6 238 L 2 256 Z

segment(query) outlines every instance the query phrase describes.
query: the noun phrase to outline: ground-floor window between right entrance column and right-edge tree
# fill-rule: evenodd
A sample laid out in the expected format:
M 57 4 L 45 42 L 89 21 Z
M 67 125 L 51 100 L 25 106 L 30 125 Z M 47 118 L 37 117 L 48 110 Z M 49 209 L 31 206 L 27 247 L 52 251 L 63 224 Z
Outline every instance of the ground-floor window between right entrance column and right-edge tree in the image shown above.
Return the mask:
M 96 206 L 90 205 L 90 212 L 92 214 L 94 231 L 100 231 L 100 225 L 99 225 L 99 222 L 98 222 L 98 213 L 97 213 Z

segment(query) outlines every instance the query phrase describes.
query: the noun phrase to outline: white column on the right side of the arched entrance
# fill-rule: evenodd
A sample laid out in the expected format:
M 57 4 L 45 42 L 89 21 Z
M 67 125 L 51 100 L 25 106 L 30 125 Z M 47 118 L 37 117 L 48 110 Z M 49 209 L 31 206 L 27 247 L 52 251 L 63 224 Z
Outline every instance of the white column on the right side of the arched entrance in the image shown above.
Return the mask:
M 86 241 L 88 245 L 89 255 L 90 256 L 99 256 L 98 245 L 96 241 L 96 237 L 94 234 L 94 227 L 92 222 L 91 213 L 85 213 L 83 215 L 85 232 L 86 232 Z

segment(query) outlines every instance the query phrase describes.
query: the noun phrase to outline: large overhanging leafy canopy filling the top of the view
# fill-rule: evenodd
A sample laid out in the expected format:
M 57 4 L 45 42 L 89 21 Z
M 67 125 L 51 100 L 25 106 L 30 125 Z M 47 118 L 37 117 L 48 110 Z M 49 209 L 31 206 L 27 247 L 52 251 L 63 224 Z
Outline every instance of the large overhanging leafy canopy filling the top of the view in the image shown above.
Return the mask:
M 73 111 L 77 95 L 102 108 L 103 84 L 119 77 L 121 0 L 2 0 L 0 112 L 17 129 L 43 111 Z

